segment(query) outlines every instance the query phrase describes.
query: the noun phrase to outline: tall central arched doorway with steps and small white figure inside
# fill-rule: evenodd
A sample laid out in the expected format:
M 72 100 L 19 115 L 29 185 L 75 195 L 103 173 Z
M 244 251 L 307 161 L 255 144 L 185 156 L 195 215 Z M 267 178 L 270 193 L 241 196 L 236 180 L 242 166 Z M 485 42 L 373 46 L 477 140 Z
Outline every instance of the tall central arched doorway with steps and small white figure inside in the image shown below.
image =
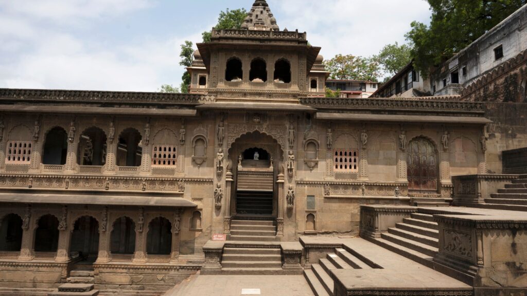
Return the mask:
M 235 188 L 233 216 L 277 216 L 276 175 L 284 152 L 274 137 L 258 131 L 241 135 L 229 149 Z

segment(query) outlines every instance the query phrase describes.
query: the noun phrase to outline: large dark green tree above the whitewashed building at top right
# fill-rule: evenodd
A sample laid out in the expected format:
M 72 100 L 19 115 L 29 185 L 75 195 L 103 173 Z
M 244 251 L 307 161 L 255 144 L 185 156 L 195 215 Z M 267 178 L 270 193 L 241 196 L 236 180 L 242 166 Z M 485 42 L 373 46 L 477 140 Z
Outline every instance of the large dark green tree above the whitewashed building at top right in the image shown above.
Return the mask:
M 424 76 L 527 3 L 527 0 L 427 1 L 432 10 L 430 26 L 412 22 L 412 29 L 406 34 L 413 43 L 414 65 Z

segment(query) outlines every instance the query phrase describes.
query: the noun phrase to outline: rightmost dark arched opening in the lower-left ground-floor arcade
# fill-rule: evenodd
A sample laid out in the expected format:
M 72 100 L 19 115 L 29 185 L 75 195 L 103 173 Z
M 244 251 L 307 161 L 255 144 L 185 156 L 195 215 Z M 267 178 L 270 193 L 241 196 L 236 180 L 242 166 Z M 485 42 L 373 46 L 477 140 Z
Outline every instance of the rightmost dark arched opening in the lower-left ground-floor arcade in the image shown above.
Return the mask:
M 158 217 L 148 225 L 147 253 L 169 255 L 172 251 L 172 224 L 165 218 Z

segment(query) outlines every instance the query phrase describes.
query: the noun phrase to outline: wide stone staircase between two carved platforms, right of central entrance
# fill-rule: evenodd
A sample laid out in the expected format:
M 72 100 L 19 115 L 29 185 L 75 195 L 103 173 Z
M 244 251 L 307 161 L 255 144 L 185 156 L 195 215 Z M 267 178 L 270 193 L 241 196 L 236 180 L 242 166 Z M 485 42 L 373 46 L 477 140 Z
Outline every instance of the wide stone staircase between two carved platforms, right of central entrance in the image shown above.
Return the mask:
M 439 252 L 438 225 L 430 214 L 412 213 L 411 218 L 371 240 L 429 268 L 434 267 L 433 258 Z

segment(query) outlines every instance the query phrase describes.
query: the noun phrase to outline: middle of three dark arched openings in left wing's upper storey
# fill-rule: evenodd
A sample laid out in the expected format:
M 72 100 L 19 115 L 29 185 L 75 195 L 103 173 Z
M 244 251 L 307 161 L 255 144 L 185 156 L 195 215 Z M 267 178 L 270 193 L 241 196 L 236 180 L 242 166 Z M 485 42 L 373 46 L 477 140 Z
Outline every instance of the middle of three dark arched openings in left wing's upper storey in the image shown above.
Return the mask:
M 106 163 L 106 134 L 99 127 L 90 127 L 79 139 L 77 163 L 104 165 Z

